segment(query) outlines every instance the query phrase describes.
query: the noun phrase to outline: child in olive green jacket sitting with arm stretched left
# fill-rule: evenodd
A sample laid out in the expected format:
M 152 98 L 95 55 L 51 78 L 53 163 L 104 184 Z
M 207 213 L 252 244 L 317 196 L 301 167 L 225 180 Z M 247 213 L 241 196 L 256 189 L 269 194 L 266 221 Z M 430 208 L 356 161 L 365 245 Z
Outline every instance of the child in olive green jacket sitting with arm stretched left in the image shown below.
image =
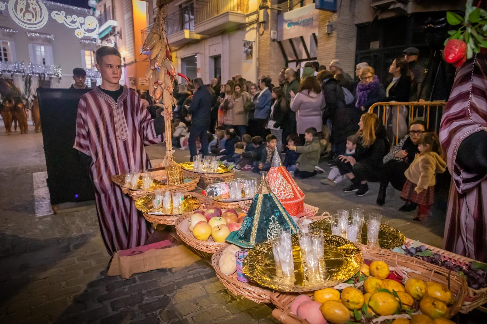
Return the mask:
M 315 127 L 306 128 L 304 131 L 304 140 L 306 141 L 304 146 L 286 145 L 291 151 L 301 154 L 296 162 L 298 169 L 294 172 L 294 175 L 298 178 L 306 179 L 318 173 L 315 167 L 319 162 L 320 145 L 316 134 Z

